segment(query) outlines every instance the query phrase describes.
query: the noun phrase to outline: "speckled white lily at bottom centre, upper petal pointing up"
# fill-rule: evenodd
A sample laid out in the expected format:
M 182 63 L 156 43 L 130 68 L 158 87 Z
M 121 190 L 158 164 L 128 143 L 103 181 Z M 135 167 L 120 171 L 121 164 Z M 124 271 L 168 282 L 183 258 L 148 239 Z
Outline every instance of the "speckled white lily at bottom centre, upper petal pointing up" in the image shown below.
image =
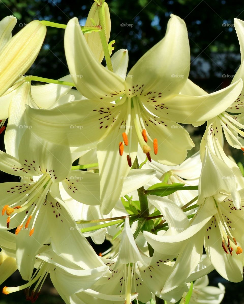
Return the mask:
M 185 282 L 179 284 L 173 291 L 161 292 L 166 278 L 173 269 L 167 264 L 170 259 L 169 254 L 155 252 L 152 258 L 143 254 L 135 243 L 127 217 L 117 257 L 112 260 L 104 259 L 105 263 L 109 265 L 112 276 L 101 278 L 92 289 L 105 292 L 109 296 L 125 293 L 124 303 L 132 301 L 133 292 L 136 292 L 137 299 L 144 303 L 151 299 L 151 293 L 168 301 L 173 299 L 177 301 L 184 290 L 187 290 Z

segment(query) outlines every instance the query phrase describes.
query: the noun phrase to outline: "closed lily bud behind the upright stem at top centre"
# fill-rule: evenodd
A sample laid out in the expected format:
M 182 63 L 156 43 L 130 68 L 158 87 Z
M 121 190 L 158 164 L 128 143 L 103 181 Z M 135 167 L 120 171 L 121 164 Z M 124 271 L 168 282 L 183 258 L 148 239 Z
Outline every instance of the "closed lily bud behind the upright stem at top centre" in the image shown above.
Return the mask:
M 105 24 L 106 24 L 105 34 L 108 43 L 110 37 L 110 30 L 111 30 L 111 20 L 109 14 L 109 7 L 107 3 L 104 2 L 103 5 L 105 11 Z M 91 19 L 95 22 L 95 25 L 99 25 L 98 8 L 95 2 L 92 4 L 92 7 L 90 9 L 90 12 L 85 22 L 85 26 L 94 26 L 94 23 L 92 22 Z M 84 34 L 84 36 L 95 58 L 101 63 L 104 57 L 104 53 L 102 49 L 102 43 L 100 40 L 99 32 L 86 33 Z

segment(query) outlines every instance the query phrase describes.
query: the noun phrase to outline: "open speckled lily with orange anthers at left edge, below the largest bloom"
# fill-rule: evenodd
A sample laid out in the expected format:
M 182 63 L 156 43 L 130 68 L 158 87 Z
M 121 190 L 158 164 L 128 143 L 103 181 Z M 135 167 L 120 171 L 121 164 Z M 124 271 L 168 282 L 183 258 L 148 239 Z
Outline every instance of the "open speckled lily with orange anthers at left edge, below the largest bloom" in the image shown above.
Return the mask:
M 81 236 L 78 231 L 79 228 L 76 226 L 73 216 L 66 210 L 67 207 L 59 197 L 59 182 L 62 181 L 63 185 L 67 184 L 71 195 L 79 192 L 81 199 L 84 197 L 87 199 L 87 195 L 90 197 L 93 195 L 92 192 L 82 191 L 84 185 L 81 184 L 86 182 L 83 173 L 89 172 L 82 172 L 78 175 L 80 172 L 70 171 L 72 161 L 67 146 L 46 143 L 26 130 L 18 154 L 19 160 L 1 152 L 0 168 L 2 171 L 22 176 L 23 181 L 0 184 L 2 197 L 0 229 L 17 227 L 15 234 L 18 235 L 16 240 L 18 269 L 24 279 L 29 279 L 35 262 L 34 256 L 42 244 L 48 243 L 50 237 L 53 236 L 55 239 L 53 241 L 54 250 L 62 252 L 62 254 L 69 250 L 68 244 L 74 242 L 74 237 L 77 238 L 79 244 L 86 242 L 85 237 Z M 75 179 L 76 175 L 77 179 Z M 29 181 L 32 176 L 35 178 L 34 182 Z M 67 176 L 68 178 L 66 178 Z M 83 179 L 80 179 L 80 176 Z M 89 181 L 87 183 L 89 184 Z M 70 237 L 70 230 L 75 230 L 73 231 L 74 237 Z M 33 233 L 35 237 L 30 238 Z M 82 239 L 79 240 L 79 238 Z M 82 246 L 89 252 L 88 243 L 82 244 Z M 92 250 L 92 252 L 94 251 Z M 92 252 L 90 256 L 92 256 Z M 76 260 L 74 252 L 69 253 L 68 256 L 71 260 Z M 93 259 L 94 263 L 97 263 L 95 257 Z

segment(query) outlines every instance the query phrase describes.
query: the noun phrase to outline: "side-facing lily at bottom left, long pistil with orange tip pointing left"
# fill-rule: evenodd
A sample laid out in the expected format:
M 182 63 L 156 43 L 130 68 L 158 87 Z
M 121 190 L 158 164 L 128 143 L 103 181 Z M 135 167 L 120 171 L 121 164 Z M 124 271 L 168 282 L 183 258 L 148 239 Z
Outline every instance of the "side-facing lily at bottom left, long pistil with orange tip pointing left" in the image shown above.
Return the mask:
M 74 244 L 72 250 L 77 250 Z M 102 262 L 100 262 L 100 265 L 96 268 L 84 269 L 77 264 L 77 262 L 71 261 L 69 258 L 63 256 L 62 253 L 56 254 L 52 250 L 52 245 L 50 246 L 50 244 L 47 250 L 36 255 L 35 268 L 37 269 L 29 279 L 29 282 L 17 287 L 5 286 L 3 288 L 3 293 L 8 295 L 9 293 L 28 288 L 26 299 L 35 301 L 40 293 L 45 278 L 49 273 L 57 290 L 60 290 L 62 294 L 69 296 L 88 289 L 109 270 Z M 36 283 L 36 285 L 33 290 L 31 290 L 31 286 L 34 283 Z

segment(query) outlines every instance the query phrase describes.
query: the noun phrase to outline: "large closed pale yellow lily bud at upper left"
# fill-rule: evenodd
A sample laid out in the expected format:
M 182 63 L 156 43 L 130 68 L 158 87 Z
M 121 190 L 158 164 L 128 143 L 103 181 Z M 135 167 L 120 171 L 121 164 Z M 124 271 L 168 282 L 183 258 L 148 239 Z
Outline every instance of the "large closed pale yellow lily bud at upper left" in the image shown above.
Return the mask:
M 46 35 L 38 20 L 30 22 L 0 50 L 0 96 L 24 74 L 37 57 Z

